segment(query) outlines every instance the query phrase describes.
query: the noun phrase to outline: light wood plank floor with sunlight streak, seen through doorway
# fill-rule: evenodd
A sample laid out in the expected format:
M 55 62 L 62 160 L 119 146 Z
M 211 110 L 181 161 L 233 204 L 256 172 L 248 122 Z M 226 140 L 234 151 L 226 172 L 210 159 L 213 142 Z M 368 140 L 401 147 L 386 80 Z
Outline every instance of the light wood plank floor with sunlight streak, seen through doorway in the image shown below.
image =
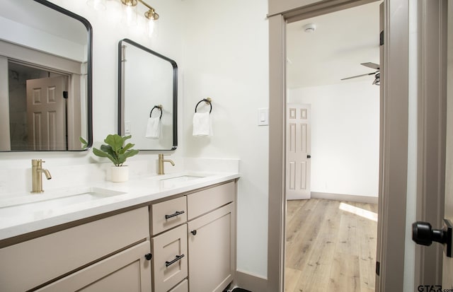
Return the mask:
M 288 201 L 285 291 L 374 291 L 376 214 L 377 204 Z

